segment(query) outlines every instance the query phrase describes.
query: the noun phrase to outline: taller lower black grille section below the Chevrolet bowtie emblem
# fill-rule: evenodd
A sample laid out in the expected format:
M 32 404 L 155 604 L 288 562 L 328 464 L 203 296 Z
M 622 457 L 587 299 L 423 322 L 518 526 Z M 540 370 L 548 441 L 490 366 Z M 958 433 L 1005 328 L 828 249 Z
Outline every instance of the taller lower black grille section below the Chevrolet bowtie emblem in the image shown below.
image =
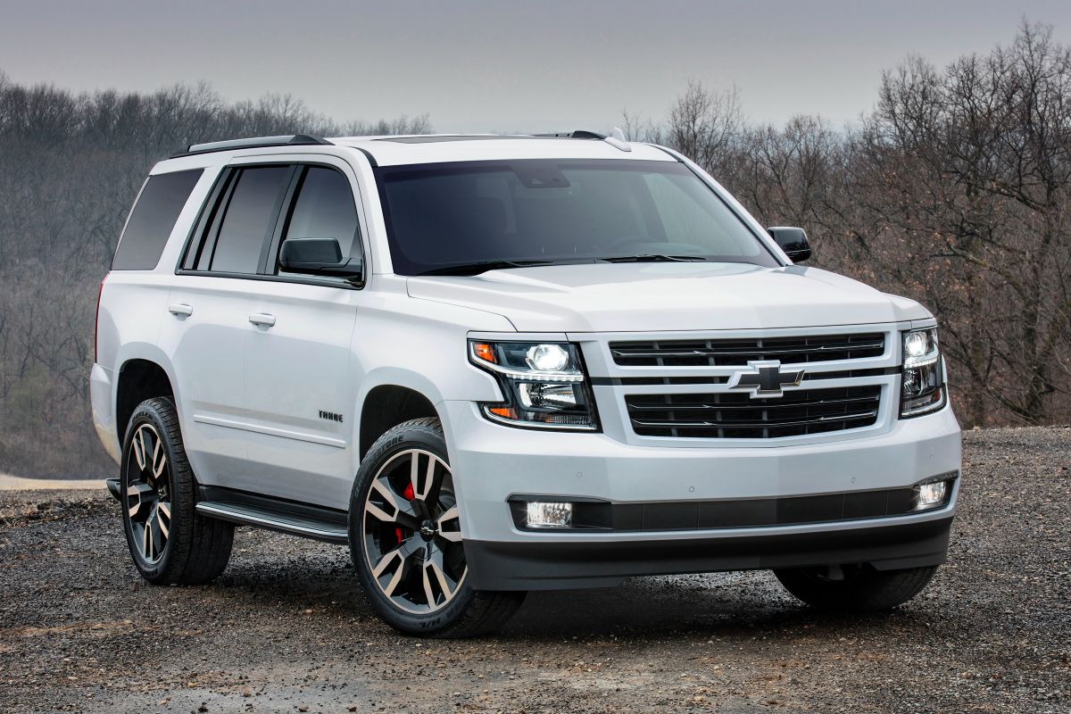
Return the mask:
M 842 431 L 877 422 L 881 386 L 791 390 L 782 397 L 749 394 L 633 394 L 624 397 L 642 437 L 776 439 Z

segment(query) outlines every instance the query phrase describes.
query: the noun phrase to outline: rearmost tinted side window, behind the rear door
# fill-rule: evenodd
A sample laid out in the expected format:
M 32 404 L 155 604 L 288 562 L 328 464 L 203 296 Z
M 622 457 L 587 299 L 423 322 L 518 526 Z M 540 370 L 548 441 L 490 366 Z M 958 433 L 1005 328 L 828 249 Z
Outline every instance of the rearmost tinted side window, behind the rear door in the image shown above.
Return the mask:
M 126 222 L 111 270 L 152 270 L 202 169 L 149 177 Z

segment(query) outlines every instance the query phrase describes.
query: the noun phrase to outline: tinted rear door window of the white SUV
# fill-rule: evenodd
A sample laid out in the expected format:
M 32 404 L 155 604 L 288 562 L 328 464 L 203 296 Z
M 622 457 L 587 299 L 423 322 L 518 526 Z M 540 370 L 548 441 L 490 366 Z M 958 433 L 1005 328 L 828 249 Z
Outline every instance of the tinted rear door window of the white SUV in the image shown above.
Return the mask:
M 289 176 L 290 168 L 286 166 L 242 170 L 220 226 L 210 270 L 257 272 L 261 250 L 275 227 Z

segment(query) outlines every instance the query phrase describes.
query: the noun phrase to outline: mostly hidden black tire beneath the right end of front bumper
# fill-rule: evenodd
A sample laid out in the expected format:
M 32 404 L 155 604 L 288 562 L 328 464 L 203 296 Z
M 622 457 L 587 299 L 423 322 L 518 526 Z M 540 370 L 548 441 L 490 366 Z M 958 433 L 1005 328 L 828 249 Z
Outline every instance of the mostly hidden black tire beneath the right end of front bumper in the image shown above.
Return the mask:
M 793 595 L 819 610 L 875 612 L 891 610 L 918 595 L 930 583 L 936 565 L 903 571 L 877 571 L 870 565 L 845 565 L 843 577 L 829 568 L 774 571 Z

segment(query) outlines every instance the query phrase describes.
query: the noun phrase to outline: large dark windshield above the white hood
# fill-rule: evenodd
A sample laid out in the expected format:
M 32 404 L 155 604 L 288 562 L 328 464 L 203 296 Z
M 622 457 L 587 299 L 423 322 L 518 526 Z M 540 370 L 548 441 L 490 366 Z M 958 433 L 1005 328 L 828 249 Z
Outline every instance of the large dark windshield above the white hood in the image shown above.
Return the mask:
M 677 162 L 466 162 L 376 176 L 401 275 L 602 260 L 780 264 Z

